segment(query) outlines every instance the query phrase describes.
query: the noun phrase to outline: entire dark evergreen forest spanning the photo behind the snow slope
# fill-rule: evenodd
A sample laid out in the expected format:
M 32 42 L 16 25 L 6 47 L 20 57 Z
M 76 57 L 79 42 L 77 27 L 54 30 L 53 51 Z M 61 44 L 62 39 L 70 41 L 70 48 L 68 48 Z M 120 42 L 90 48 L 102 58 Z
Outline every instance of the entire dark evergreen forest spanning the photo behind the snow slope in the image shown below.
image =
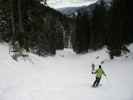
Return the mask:
M 73 17 L 40 1 L 0 0 L 0 41 L 9 43 L 11 52 L 48 56 L 72 48 L 80 54 L 103 46 L 111 58 L 129 52 L 126 45 L 133 42 L 131 0 L 113 0 L 109 5 L 99 0 L 91 15 L 77 12 Z

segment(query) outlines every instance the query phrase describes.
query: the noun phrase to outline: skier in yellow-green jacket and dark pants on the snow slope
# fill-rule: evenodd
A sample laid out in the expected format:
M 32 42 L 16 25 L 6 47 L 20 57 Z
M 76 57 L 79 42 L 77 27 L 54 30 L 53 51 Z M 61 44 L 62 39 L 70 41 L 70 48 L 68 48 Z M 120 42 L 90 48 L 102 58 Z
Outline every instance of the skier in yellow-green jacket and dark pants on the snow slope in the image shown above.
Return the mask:
M 101 80 L 102 75 L 104 75 L 106 77 L 106 74 L 103 71 L 101 65 L 99 65 L 99 68 L 95 71 L 94 74 L 96 74 L 96 80 L 94 81 L 94 83 L 93 83 L 92 86 L 93 87 L 97 87 L 99 85 L 99 83 L 100 83 L 100 80 Z

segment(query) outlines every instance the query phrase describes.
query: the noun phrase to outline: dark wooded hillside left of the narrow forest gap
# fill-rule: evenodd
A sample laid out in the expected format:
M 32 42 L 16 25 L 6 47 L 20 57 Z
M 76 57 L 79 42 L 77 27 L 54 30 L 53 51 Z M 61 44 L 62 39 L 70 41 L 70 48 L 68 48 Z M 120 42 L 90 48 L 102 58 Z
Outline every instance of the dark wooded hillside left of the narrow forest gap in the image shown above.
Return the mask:
M 67 45 L 71 20 L 40 1 L 0 0 L 0 40 L 10 43 L 13 52 L 54 55 Z

